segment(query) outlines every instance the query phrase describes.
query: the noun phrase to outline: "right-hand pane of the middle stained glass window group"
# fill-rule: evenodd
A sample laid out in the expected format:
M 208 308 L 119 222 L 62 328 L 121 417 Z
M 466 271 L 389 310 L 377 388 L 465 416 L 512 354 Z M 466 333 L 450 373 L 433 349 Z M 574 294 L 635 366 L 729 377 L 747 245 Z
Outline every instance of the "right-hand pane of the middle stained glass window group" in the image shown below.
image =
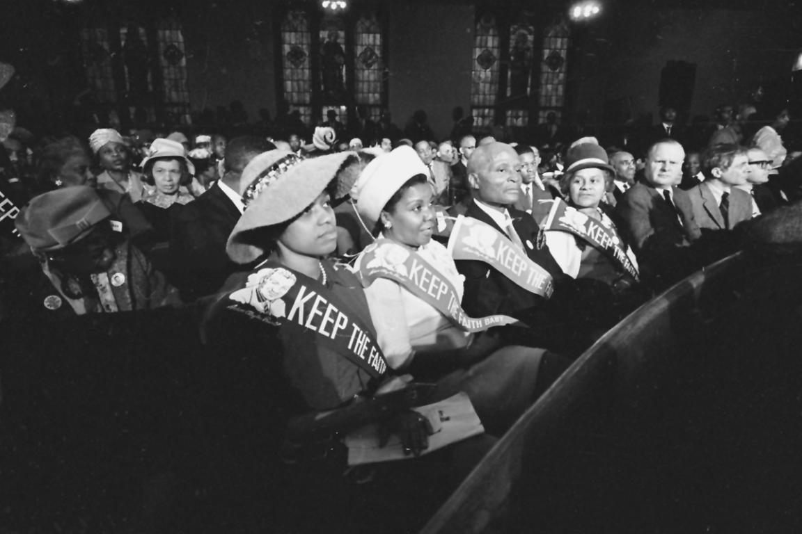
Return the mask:
M 379 120 L 382 106 L 382 28 L 375 13 L 363 14 L 356 22 L 354 54 L 355 97 L 367 118 Z

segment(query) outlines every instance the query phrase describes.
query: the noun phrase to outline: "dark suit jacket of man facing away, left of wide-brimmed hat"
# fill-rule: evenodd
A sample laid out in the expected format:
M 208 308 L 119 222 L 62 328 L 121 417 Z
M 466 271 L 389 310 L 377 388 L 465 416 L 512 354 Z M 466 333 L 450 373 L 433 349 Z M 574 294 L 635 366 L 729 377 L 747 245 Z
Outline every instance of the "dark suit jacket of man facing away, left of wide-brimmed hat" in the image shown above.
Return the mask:
M 217 185 L 195 202 L 171 212 L 170 256 L 180 273 L 174 283 L 185 300 L 217 291 L 234 271 L 248 267 L 233 263 L 225 243 L 240 219 L 240 211 Z

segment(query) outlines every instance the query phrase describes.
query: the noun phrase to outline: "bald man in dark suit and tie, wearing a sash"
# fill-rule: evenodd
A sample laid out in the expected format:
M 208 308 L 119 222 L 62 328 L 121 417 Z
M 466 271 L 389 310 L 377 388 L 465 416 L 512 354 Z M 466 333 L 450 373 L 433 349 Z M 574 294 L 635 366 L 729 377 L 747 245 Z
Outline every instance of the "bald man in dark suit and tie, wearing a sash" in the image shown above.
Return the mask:
M 520 197 L 520 184 L 520 160 L 512 147 L 504 143 L 477 147 L 468 160 L 468 185 L 473 199 L 465 216 L 493 227 L 504 239 L 525 251 L 534 263 L 549 271 L 555 282 L 560 281 L 561 268 L 545 243 L 538 243 L 537 223 L 525 211 L 512 207 Z M 468 315 L 511 315 L 537 326 L 549 321 L 543 297 L 521 289 L 492 265 L 472 260 L 457 260 L 456 265 L 465 276 L 462 304 Z

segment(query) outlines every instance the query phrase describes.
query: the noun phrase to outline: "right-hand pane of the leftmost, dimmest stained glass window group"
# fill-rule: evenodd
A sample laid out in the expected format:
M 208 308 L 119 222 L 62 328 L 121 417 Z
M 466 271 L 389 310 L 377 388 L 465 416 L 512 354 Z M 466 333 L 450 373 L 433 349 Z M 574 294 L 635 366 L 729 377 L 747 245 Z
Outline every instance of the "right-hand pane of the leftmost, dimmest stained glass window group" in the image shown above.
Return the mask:
M 189 123 L 189 89 L 187 86 L 187 57 L 184 35 L 178 21 L 161 21 L 158 37 L 159 66 L 164 84 L 164 107 L 170 122 Z

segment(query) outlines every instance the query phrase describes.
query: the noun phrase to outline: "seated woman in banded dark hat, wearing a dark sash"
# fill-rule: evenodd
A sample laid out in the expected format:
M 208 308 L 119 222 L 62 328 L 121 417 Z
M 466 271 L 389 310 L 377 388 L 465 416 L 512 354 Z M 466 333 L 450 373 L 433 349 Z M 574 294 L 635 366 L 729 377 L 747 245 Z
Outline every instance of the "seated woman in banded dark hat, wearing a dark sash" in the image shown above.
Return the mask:
M 555 200 L 541 227 L 563 272 L 585 281 L 575 286 L 581 308 L 617 320 L 640 303 L 642 295 L 638 260 L 602 203 L 606 175 L 612 172 L 606 151 L 597 144 L 571 148 L 561 178 L 567 201 Z

